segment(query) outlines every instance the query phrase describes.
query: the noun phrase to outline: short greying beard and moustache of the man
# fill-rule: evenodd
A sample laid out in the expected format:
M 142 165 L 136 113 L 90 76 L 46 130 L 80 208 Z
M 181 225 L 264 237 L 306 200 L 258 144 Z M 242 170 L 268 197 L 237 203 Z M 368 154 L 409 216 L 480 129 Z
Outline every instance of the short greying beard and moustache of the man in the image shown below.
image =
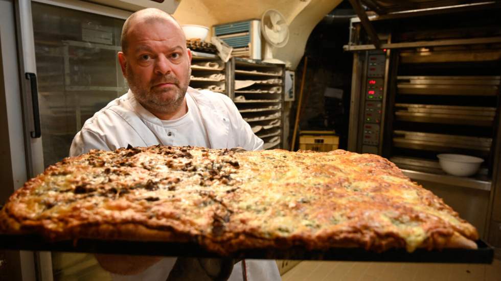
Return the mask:
M 141 86 L 141 81 L 135 75 L 135 73 L 126 66 L 126 77 L 127 84 L 129 84 L 129 88 L 134 94 L 134 97 L 138 99 L 139 103 L 149 110 L 150 112 L 163 113 L 163 114 L 172 114 L 176 112 L 181 105 L 183 104 L 183 100 L 186 95 L 186 90 L 188 89 L 189 80 L 186 85 L 181 85 L 180 81 L 173 74 L 168 74 L 165 76 L 157 76 L 157 78 L 153 79 L 149 85 L 146 87 Z M 191 74 L 191 68 L 188 68 L 189 78 Z M 153 86 L 158 85 L 160 83 L 170 83 L 173 84 L 174 88 L 163 88 L 163 89 L 152 89 Z M 170 98 L 164 98 L 165 93 L 175 91 L 173 96 Z

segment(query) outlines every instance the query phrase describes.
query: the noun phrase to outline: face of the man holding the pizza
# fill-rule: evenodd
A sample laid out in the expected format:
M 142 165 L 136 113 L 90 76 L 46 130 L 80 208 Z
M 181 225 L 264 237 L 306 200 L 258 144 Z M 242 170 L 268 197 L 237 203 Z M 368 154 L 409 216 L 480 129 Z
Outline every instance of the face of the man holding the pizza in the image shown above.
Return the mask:
M 190 84 L 191 52 L 182 32 L 169 20 L 136 23 L 128 32 L 126 55 L 119 53 L 135 98 L 154 114 L 176 112 Z

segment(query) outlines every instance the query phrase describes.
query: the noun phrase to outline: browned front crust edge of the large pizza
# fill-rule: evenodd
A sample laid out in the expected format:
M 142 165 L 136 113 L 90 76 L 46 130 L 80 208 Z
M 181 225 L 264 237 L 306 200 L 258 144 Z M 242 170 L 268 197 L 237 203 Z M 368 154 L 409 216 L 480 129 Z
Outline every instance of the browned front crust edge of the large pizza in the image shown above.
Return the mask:
M 8 207 L 8 206 L 6 206 Z M 198 243 L 208 251 L 227 256 L 229 254 L 246 249 L 287 249 L 293 246 L 304 247 L 306 250 L 322 250 L 329 248 L 365 248 L 381 252 L 390 248 L 405 248 L 403 238 L 395 236 L 367 237 L 367 233 L 354 233 L 347 235 L 344 232 L 334 232 L 323 235 L 321 239 L 307 239 L 305 236 L 295 236 L 292 238 L 260 238 L 249 233 L 226 233 L 219 238 L 210 236 L 191 235 L 186 232 L 172 229 L 155 229 L 141 223 L 101 223 L 101 224 L 79 224 L 65 229 L 62 232 L 54 232 L 47 229 L 41 221 L 22 220 L 18 221 L 6 212 L 5 208 L 0 211 L 0 225 L 2 232 L 8 234 L 30 235 L 41 233 L 45 239 L 50 241 L 61 241 L 71 239 L 97 239 L 97 240 L 122 240 L 122 241 L 155 241 L 168 243 Z M 457 231 L 452 235 L 444 235 L 441 229 L 433 231 L 417 248 L 424 249 L 444 249 L 444 248 L 464 248 L 476 249 L 476 243 L 463 236 Z M 414 250 L 414 249 L 413 249 Z

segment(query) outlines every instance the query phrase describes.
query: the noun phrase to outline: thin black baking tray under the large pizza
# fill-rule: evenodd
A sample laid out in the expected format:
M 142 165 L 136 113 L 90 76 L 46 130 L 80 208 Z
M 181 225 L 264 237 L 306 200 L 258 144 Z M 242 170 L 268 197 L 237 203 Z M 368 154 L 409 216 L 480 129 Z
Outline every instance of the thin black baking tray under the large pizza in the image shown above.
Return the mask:
M 330 248 L 307 250 L 303 247 L 286 249 L 247 249 L 230 256 L 219 256 L 196 243 L 138 242 L 120 240 L 78 239 L 48 242 L 35 235 L 0 234 L 0 249 L 139 254 L 170 257 L 231 258 L 231 259 L 284 259 L 363 262 L 416 262 L 416 263 L 475 263 L 490 264 L 494 248 L 482 240 L 476 241 L 478 249 L 417 249 L 408 253 L 405 249 L 390 249 L 384 252 L 367 251 L 361 248 Z

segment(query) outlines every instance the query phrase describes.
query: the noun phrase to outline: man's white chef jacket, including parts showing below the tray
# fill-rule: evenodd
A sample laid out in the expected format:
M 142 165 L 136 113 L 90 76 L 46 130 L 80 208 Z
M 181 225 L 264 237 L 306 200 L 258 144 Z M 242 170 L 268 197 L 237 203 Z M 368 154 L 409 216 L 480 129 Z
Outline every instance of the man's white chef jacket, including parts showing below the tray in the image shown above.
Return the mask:
M 192 98 L 194 101 L 189 105 L 194 104 L 198 107 L 197 116 L 201 119 L 204 131 L 207 132 L 209 148 L 263 149 L 263 141 L 252 132 L 229 97 L 207 90 L 197 91 L 191 87 L 186 94 L 189 95 L 187 98 Z M 129 144 L 168 145 L 171 143 L 168 130 L 162 120 L 141 106 L 129 90 L 84 123 L 82 130 L 73 139 L 70 156 L 84 154 L 90 149 L 115 150 L 127 147 Z M 176 258 L 165 258 L 140 274 L 128 276 L 112 274 L 112 277 L 115 280 L 164 281 L 175 261 Z M 273 260 L 246 260 L 245 268 L 246 270 L 242 270 L 242 263 L 237 263 L 229 280 L 281 280 Z M 245 277 L 242 272 L 245 272 Z

